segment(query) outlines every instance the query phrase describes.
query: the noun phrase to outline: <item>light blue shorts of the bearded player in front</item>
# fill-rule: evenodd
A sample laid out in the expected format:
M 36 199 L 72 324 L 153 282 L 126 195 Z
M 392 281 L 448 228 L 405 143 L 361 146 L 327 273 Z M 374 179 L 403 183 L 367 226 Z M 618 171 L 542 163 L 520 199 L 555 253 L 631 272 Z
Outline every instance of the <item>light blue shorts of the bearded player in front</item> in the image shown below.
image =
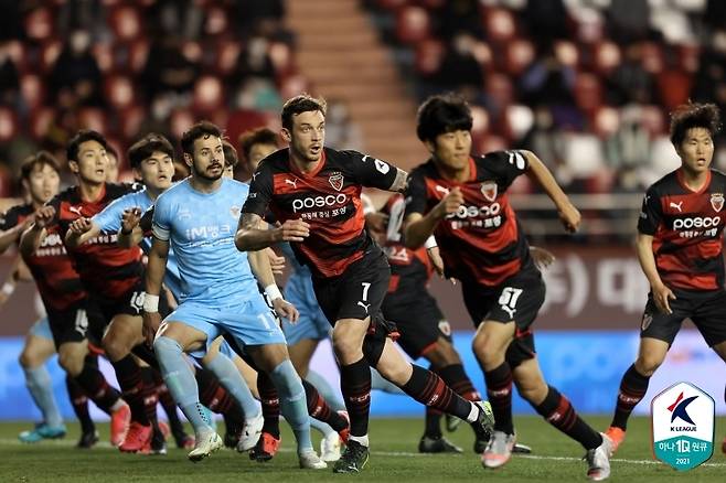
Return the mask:
M 225 333 L 243 350 L 249 345 L 285 344 L 285 335 L 274 314 L 261 296 L 257 294 L 225 307 L 185 301 L 164 319 L 164 322 L 172 321 L 182 322 L 206 334 L 205 347 L 191 352 L 193 357 L 203 357 L 212 342 Z

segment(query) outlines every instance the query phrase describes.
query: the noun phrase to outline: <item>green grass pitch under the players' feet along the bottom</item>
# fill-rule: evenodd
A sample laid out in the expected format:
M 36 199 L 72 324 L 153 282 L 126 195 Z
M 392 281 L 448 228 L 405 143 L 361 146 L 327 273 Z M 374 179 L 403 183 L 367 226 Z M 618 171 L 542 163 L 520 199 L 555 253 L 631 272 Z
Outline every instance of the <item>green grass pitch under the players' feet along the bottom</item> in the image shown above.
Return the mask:
M 586 418 L 604 428 L 606 418 Z M 726 420 L 717 418 L 716 444 L 712 459 L 690 472 L 676 472 L 652 459 L 650 450 L 650 420 L 633 418 L 628 439 L 612 462 L 613 482 L 724 482 L 726 457 L 720 452 L 720 441 L 726 434 Z M 102 443 L 93 450 L 76 450 L 73 444 L 78 436 L 77 425 L 71 423 L 64 440 L 44 441 L 29 446 L 18 442 L 17 434 L 28 423 L 0 425 L 0 464 L 2 482 L 307 482 L 355 480 L 356 482 L 383 481 L 587 481 L 586 464 L 580 461 L 581 447 L 562 436 L 535 417 L 515 419 L 519 439 L 532 446 L 531 458 L 515 457 L 506 466 L 491 471 L 482 469 L 479 457 L 471 450 L 471 431 L 461 427 L 449 438 L 465 448 L 461 455 L 419 455 L 418 438 L 423 422 L 417 419 L 375 419 L 371 421 L 373 453 L 360 475 L 334 475 L 331 470 L 302 471 L 289 431 L 284 433 L 282 451 L 271 462 L 258 464 L 247 455 L 229 450 L 215 453 L 211 459 L 193 464 L 185 452 L 170 449 L 166 457 L 121 454 L 109 444 Z M 285 425 L 282 425 L 285 426 Z M 100 426 L 102 441 L 108 441 L 106 426 Z M 319 437 L 314 436 L 318 444 Z

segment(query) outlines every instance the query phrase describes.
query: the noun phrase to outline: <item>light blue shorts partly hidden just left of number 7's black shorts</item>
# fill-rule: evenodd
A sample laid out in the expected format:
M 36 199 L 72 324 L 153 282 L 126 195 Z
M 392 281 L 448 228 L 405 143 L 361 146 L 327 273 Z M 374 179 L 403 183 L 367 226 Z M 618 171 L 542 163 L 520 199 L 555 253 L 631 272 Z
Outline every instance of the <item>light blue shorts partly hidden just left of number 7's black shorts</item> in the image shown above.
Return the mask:
M 285 286 L 285 300 L 300 312 L 300 319 L 296 324 L 282 319 L 282 332 L 288 345 L 295 345 L 306 339 L 322 341 L 330 336 L 332 326 L 318 304 L 312 280 L 308 273 L 296 272 L 288 279 Z

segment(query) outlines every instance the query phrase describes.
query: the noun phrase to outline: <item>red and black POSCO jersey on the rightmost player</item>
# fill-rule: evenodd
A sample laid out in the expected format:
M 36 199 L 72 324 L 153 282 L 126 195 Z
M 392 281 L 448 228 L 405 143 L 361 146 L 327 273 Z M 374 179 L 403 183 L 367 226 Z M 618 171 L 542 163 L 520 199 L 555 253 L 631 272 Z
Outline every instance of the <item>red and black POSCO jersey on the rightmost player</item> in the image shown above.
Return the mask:
M 653 236 L 655 266 L 663 283 L 686 290 L 724 285 L 724 196 L 726 174 L 711 170 L 692 191 L 679 169 L 645 192 L 638 230 Z

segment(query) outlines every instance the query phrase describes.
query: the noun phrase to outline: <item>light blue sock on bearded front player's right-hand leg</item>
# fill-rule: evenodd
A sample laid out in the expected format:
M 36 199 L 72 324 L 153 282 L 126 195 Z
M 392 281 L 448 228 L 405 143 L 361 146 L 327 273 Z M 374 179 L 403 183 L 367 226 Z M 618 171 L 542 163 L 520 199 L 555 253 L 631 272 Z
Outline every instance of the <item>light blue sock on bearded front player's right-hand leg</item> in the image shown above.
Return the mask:
M 305 388 L 292 363 L 287 359 L 269 374 L 280 396 L 280 410 L 298 440 L 298 453 L 312 450 L 310 417 Z

